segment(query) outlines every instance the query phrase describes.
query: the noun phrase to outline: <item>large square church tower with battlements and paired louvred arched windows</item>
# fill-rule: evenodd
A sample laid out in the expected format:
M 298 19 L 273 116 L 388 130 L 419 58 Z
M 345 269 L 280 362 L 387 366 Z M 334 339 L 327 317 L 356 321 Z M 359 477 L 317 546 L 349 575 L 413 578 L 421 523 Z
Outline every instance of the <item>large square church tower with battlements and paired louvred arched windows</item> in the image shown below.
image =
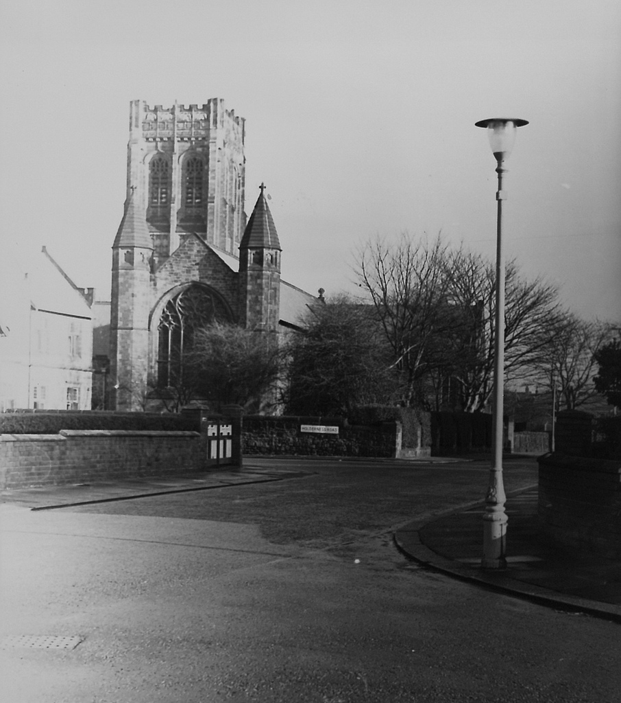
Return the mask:
M 145 213 L 156 265 L 195 233 L 237 255 L 246 226 L 244 120 L 224 101 L 130 108 L 127 196 Z

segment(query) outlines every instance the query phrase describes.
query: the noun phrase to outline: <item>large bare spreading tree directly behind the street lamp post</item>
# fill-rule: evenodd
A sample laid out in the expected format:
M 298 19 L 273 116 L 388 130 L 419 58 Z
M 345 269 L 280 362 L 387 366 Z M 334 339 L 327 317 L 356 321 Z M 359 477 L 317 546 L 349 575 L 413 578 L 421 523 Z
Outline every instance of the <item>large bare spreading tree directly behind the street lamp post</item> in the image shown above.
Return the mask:
M 406 404 L 434 404 L 429 392 L 460 409 L 479 411 L 493 382 L 495 269 L 480 254 L 451 251 L 441 236 L 429 244 L 403 235 L 396 245 L 368 243 L 356 262 L 361 286 L 375 307 L 406 379 Z M 542 278 L 525 280 L 506 266 L 505 373 L 540 359 L 558 314 L 558 293 Z

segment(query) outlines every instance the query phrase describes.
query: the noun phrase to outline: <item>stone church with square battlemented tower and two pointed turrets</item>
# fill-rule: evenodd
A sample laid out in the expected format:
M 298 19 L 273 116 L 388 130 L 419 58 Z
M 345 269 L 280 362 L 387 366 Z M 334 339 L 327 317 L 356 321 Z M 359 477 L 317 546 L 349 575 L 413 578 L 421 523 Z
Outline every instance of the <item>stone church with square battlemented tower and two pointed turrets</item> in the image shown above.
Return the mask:
M 138 411 L 162 397 L 180 377 L 192 330 L 234 323 L 278 343 L 316 303 L 281 280 L 265 186 L 246 217 L 245 166 L 244 120 L 221 99 L 131 102 L 126 203 L 112 246 L 110 408 Z

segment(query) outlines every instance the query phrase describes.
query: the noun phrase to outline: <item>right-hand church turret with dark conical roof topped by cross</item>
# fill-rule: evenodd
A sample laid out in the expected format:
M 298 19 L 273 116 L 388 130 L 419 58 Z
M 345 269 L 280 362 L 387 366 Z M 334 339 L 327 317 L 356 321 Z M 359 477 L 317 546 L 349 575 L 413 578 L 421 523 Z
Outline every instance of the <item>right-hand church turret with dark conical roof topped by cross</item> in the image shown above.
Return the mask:
M 239 246 L 239 322 L 249 330 L 278 331 L 281 246 L 265 200 L 265 185 Z

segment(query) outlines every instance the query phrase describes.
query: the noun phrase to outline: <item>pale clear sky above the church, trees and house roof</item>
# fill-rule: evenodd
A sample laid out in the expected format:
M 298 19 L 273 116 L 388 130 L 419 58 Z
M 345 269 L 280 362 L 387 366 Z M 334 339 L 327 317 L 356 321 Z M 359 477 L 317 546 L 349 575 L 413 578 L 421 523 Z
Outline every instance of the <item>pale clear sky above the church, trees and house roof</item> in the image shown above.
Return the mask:
M 0 236 L 109 299 L 131 100 L 246 119 L 285 280 L 356 292 L 374 238 L 495 257 L 495 160 L 519 117 L 504 236 L 523 276 L 621 323 L 617 0 L 4 0 Z

